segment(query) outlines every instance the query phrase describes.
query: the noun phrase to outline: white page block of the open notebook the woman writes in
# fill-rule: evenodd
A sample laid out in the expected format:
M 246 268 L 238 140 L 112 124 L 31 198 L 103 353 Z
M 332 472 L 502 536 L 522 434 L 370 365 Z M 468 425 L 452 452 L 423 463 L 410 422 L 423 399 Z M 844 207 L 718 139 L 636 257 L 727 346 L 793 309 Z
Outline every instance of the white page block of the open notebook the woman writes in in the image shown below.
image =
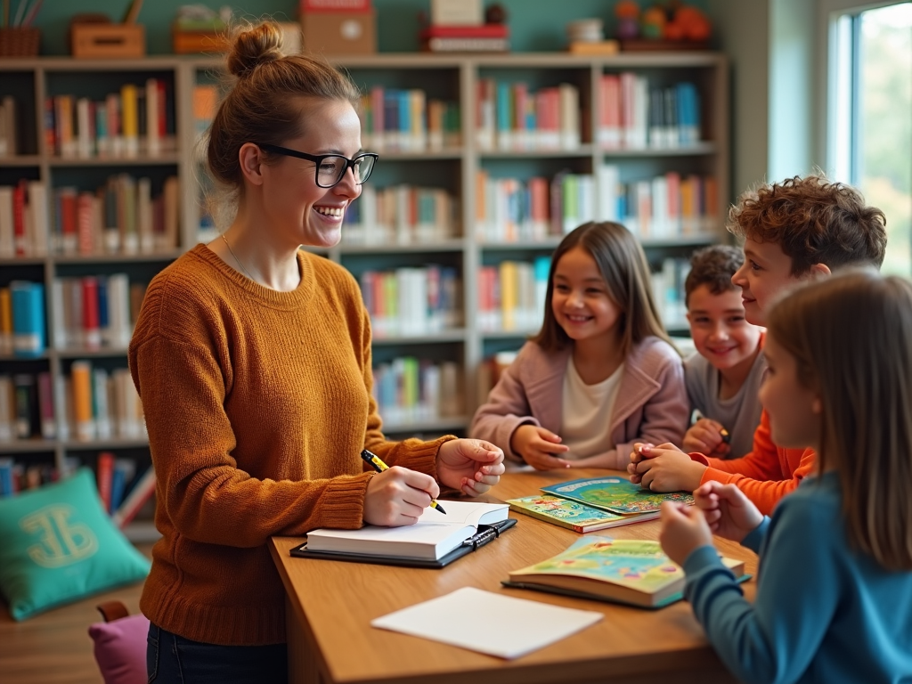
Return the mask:
M 367 525 L 360 530 L 314 530 L 307 534 L 306 550 L 438 561 L 472 539 L 480 525 L 497 529 L 497 523 L 504 523 L 510 510 L 506 503 L 444 504 L 446 514 L 426 508 L 418 523 L 405 527 Z

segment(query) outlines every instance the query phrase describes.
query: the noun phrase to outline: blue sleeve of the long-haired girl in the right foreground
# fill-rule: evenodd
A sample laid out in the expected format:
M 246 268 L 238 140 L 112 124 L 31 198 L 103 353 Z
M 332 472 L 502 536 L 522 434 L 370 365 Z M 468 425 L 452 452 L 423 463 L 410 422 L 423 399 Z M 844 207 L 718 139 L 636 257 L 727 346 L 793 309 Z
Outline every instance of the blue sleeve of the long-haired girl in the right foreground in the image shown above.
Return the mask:
M 684 562 L 685 595 L 694 615 L 741 681 L 784 684 L 801 678 L 840 600 L 841 570 L 830 540 L 819 534 L 824 525 L 814 522 L 821 513 L 810 500 L 795 503 L 783 505 L 770 525 L 753 605 L 711 546 Z

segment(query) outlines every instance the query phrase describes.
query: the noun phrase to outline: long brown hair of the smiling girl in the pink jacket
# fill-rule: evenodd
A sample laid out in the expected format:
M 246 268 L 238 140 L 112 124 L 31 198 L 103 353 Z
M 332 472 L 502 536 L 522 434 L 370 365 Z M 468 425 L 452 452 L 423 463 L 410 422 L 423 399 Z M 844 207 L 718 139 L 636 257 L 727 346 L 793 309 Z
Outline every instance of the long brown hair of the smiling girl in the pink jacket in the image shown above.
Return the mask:
M 643 254 L 637 238 L 627 228 L 610 221 L 584 223 L 567 233 L 561 244 L 557 245 L 551 258 L 548 289 L 544 295 L 544 322 L 532 341 L 545 351 L 556 351 L 570 342 L 564 328 L 557 325 L 554 319 L 551 302 L 557 263 L 575 247 L 582 247 L 596 260 L 598 272 L 608 288 L 608 295 L 621 310 L 618 325 L 621 326 L 624 356 L 629 354 L 635 344 L 650 335 L 671 344 L 652 298 L 646 254 Z

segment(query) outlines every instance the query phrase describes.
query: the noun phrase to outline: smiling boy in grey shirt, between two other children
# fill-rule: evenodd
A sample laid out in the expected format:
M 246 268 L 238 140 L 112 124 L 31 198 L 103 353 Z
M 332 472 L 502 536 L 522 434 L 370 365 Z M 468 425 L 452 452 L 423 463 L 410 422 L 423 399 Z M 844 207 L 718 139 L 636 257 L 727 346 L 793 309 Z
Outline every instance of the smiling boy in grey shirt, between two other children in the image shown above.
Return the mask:
M 743 263 L 738 247 L 704 247 L 690 258 L 684 281 L 690 337 L 697 347 L 684 361 L 684 381 L 690 409 L 702 418 L 684 435 L 683 447 L 720 459 L 749 453 L 760 425 L 763 330 L 748 323 L 741 288 L 731 282 Z

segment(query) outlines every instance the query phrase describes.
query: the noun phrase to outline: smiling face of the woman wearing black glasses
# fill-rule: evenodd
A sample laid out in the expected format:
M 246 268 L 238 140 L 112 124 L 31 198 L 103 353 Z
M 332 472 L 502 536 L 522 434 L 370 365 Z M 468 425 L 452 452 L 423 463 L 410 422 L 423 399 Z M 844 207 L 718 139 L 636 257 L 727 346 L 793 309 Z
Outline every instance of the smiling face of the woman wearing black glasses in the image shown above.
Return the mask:
M 361 149 L 358 113 L 346 101 L 307 102 L 301 113 L 297 138 L 282 147 L 306 154 L 339 154 L 351 159 Z M 316 184 L 316 163 L 277 156 L 263 167 L 264 212 L 277 237 L 295 247 L 308 244 L 331 247 L 342 237 L 342 219 L 348 205 L 358 199 L 361 186 L 351 169 L 332 188 Z

